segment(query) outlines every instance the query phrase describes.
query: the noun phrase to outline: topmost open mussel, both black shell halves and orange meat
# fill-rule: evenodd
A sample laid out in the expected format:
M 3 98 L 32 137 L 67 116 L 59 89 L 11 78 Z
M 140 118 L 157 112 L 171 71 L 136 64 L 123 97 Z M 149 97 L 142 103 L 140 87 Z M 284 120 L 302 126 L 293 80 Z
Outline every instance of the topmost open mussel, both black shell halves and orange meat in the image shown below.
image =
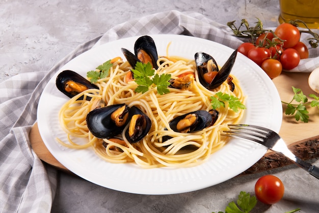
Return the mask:
M 137 62 L 150 62 L 153 68 L 158 68 L 156 45 L 150 36 L 141 36 L 136 40 L 134 44 L 134 54 L 124 48 L 121 50 L 131 67 L 135 67 Z

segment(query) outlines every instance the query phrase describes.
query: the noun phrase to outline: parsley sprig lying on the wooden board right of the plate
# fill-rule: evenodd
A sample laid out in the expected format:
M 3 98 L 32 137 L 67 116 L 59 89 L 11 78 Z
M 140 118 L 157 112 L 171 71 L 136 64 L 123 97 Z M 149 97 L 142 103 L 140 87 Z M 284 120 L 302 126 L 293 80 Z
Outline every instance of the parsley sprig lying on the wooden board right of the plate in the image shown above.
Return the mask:
M 311 107 L 318 107 L 319 109 L 319 97 L 315 94 L 309 94 L 310 98 L 313 98 L 311 102 L 308 102 L 307 96 L 302 92 L 301 89 L 292 87 L 294 91 L 294 97 L 290 102 L 281 101 L 281 103 L 286 104 L 287 108 L 285 110 L 286 115 L 294 115 L 296 121 L 301 121 L 304 123 L 308 123 L 309 119 L 309 111 L 306 106 L 310 105 Z M 298 104 L 293 104 L 293 101 L 296 101 Z

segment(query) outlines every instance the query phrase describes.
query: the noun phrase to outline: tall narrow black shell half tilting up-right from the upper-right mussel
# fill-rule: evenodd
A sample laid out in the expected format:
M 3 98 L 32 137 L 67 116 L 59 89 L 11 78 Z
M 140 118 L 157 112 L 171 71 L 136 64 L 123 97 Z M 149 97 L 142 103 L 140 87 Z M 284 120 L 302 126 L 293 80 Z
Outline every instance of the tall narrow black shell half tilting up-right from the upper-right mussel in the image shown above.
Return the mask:
M 219 70 L 215 78 L 210 82 L 207 89 L 215 89 L 219 87 L 222 83 L 224 83 L 224 81 L 226 81 L 235 63 L 236 56 L 237 56 L 237 50 L 235 50 L 230 55 L 230 57 L 228 58 L 226 63 L 222 66 L 222 68 Z

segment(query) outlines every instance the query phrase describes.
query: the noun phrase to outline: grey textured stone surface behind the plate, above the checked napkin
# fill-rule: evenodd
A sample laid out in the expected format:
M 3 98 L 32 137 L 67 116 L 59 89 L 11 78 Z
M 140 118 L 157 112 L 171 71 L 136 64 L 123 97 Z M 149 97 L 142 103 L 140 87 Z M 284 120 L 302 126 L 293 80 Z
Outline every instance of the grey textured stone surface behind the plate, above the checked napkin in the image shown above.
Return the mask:
M 157 12 L 196 11 L 225 25 L 242 18 L 255 21 L 258 16 L 265 26 L 277 25 L 278 1 L 216 2 L 0 0 L 0 81 L 22 72 L 49 70 L 78 44 L 131 18 Z

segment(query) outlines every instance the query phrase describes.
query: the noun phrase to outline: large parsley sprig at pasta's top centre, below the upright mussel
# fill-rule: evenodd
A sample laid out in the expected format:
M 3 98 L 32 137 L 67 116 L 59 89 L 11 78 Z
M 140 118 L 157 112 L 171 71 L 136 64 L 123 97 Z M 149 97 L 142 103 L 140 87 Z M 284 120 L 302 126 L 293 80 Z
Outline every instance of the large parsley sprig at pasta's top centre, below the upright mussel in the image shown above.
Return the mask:
M 152 68 L 151 63 L 137 62 L 134 69 L 131 69 L 134 74 L 135 82 L 138 87 L 135 89 L 136 92 L 145 93 L 149 88 L 156 87 L 158 94 L 169 93 L 170 90 L 167 88 L 171 79 L 170 74 L 155 74 L 155 70 Z M 155 75 L 154 75 L 155 74 Z M 153 78 L 151 79 L 150 77 Z

